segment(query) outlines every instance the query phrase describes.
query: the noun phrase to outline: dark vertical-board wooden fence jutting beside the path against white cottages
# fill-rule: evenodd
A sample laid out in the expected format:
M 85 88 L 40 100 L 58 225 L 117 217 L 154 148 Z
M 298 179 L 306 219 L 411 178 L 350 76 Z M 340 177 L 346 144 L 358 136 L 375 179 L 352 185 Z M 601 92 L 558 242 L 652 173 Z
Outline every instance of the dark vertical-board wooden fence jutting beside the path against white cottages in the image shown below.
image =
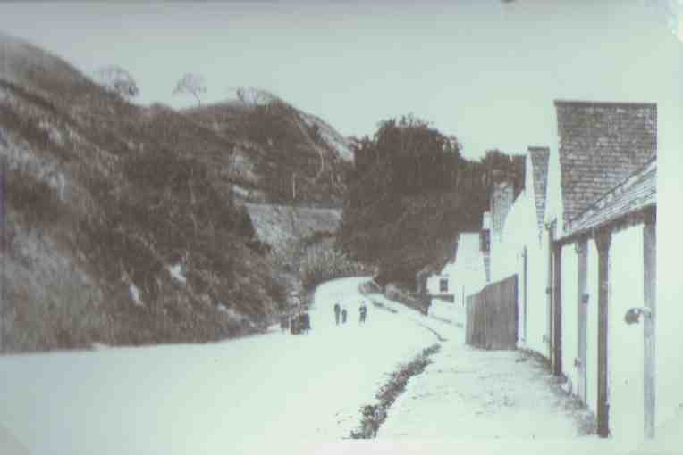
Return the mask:
M 466 342 L 484 349 L 517 347 L 517 275 L 468 296 Z

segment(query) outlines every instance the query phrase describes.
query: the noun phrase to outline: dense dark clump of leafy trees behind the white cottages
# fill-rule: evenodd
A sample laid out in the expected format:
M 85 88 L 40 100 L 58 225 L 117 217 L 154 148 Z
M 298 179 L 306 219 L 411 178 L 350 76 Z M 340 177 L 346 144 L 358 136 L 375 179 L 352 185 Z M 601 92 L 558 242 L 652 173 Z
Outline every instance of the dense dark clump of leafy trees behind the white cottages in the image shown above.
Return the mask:
M 339 244 L 375 264 L 381 283 L 414 287 L 417 272 L 442 268 L 458 233 L 480 227 L 493 182 L 523 182 L 523 157 L 465 160 L 455 136 L 411 115 L 380 122 L 353 150 Z

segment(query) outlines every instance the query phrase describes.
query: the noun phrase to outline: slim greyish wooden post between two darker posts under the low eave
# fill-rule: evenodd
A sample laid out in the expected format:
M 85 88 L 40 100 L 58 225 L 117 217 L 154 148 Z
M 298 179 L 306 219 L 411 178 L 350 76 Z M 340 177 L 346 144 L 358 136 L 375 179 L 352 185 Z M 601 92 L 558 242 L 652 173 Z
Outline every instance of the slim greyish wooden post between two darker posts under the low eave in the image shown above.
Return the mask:
M 588 244 L 581 238 L 575 244 L 577 249 L 577 311 L 578 311 L 578 396 L 584 404 L 588 403 L 587 387 L 587 351 L 588 351 Z

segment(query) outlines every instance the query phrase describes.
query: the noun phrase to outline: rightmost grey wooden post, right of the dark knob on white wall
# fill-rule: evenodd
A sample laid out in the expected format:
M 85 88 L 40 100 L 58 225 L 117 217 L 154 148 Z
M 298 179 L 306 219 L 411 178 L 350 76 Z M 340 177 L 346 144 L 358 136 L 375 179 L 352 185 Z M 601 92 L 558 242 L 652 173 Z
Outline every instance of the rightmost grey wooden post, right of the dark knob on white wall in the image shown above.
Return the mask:
M 644 245 L 644 271 L 645 286 L 644 297 L 645 307 L 650 309 L 650 317 L 644 317 L 644 336 L 645 336 L 645 438 L 654 437 L 654 424 L 656 414 L 656 327 L 657 327 L 657 212 L 656 209 L 650 211 L 645 216 L 645 227 L 643 228 Z

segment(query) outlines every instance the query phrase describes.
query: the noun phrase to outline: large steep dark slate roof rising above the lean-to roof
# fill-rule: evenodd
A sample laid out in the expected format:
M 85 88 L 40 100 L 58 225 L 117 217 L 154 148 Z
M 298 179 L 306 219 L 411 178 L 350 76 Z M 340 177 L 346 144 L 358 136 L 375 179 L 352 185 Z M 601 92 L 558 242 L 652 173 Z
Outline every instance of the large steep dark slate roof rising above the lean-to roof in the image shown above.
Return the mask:
M 555 101 L 565 228 L 657 153 L 657 105 Z

